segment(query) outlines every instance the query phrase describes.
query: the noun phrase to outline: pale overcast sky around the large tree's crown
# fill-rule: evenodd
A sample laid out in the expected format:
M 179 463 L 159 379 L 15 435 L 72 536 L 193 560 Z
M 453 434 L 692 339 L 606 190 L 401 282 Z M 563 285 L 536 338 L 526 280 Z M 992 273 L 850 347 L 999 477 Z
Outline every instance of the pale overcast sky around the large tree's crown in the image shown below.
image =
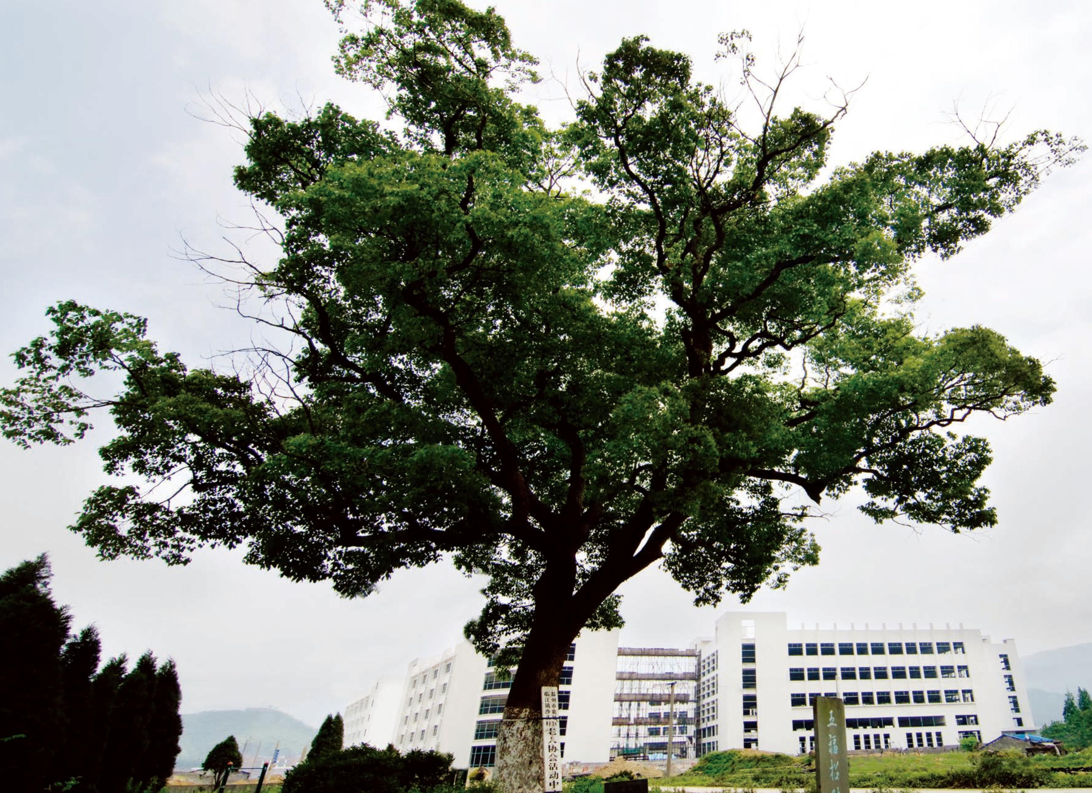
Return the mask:
M 835 161 L 874 148 L 952 141 L 945 111 L 1011 110 L 1010 134 L 1051 128 L 1092 139 L 1092 4 L 1070 2 L 498 2 L 518 46 L 575 91 L 622 36 L 693 55 L 707 81 L 734 75 L 712 55 L 716 34 L 749 28 L 768 65 L 779 41 L 807 37 L 798 99 L 821 103 L 824 80 L 867 77 L 841 123 Z M 320 0 L 115 0 L 0 3 L 0 352 L 47 329 L 44 309 L 74 298 L 150 319 L 164 348 L 202 356 L 245 345 L 248 328 L 219 288 L 171 250 L 181 236 L 214 244 L 218 219 L 245 221 L 232 187 L 240 145 L 195 120 L 211 89 L 268 105 L 377 105 L 333 74 L 337 31 Z M 566 118 L 560 83 L 536 89 Z M 815 105 L 812 104 L 812 107 Z M 822 624 L 964 623 L 1017 638 L 1023 653 L 1092 641 L 1089 490 L 1089 207 L 1092 158 L 1053 176 L 1014 216 L 953 261 L 923 262 L 923 327 L 982 323 L 1049 360 L 1054 405 L 975 428 L 995 449 L 987 483 L 999 526 L 974 536 L 874 526 L 851 503 L 814 528 L 818 568 L 752 602 Z M 13 370 L 0 362 L 0 380 Z M 438 565 L 401 574 L 377 596 L 339 599 L 207 552 L 185 568 L 102 563 L 66 529 L 105 474 L 95 441 L 26 453 L 0 445 L 0 568 L 49 552 L 57 599 L 78 626 L 98 625 L 107 653 L 151 647 L 178 662 L 183 711 L 273 706 L 318 724 L 371 681 L 453 645 L 479 605 L 479 581 Z M 624 590 L 622 641 L 682 645 L 709 634 L 719 609 L 695 609 L 660 572 Z M 725 603 L 722 608 L 736 604 Z

